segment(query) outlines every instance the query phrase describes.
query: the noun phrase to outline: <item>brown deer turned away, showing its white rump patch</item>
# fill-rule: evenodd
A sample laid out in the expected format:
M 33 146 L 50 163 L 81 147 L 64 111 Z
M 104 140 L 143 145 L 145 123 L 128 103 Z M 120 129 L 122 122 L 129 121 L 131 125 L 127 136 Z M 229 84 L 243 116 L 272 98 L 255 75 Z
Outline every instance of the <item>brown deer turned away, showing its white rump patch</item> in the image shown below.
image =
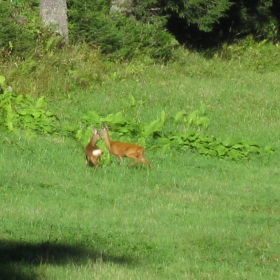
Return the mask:
M 92 162 L 95 168 L 98 167 L 98 158 L 101 156 L 102 150 L 99 149 L 95 144 L 100 139 L 101 137 L 98 134 L 97 129 L 94 128 L 92 130 L 92 137 L 85 148 L 86 166 L 89 165 L 90 162 Z

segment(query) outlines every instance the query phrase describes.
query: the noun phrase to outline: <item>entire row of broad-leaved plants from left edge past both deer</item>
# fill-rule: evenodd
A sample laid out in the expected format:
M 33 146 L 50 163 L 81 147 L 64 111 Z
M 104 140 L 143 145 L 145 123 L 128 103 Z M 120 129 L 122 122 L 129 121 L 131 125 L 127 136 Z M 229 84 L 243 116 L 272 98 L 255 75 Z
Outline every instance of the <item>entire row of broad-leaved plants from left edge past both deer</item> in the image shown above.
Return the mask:
M 209 118 L 206 116 L 206 106 L 189 115 L 185 111 L 178 112 L 173 120 L 183 122 L 188 127 L 185 133 L 163 133 L 166 114 L 162 111 L 160 117 L 150 123 L 137 123 L 131 116 L 124 116 L 122 112 L 100 116 L 96 111 L 89 111 L 83 116 L 80 127 L 78 125 L 61 125 L 56 123 L 53 113 L 47 110 L 44 97 L 34 100 L 29 95 L 13 95 L 11 89 L 5 86 L 5 78 L 0 76 L 0 86 L 4 92 L 0 95 L 1 120 L 0 125 L 9 131 L 14 127 L 31 129 L 38 132 L 52 134 L 58 132 L 64 136 L 74 136 L 83 146 L 91 136 L 92 126 L 101 127 L 108 124 L 112 138 L 119 141 L 135 142 L 146 146 L 149 144 L 155 150 L 196 151 L 201 155 L 240 160 L 253 154 L 274 152 L 272 147 L 261 147 L 258 143 L 246 142 L 241 139 L 217 138 L 202 133 Z M 131 97 L 131 106 L 135 104 Z M 59 127 L 61 126 L 61 127 Z M 171 135 L 171 136 L 170 136 Z

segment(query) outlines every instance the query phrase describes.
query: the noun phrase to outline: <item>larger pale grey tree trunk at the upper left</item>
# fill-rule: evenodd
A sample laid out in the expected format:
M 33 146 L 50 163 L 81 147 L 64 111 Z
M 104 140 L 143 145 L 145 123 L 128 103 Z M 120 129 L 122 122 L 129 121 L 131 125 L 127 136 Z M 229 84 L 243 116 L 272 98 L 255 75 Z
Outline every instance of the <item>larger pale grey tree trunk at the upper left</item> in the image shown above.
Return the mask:
M 44 24 L 56 25 L 56 32 L 68 40 L 66 0 L 40 0 L 40 16 Z

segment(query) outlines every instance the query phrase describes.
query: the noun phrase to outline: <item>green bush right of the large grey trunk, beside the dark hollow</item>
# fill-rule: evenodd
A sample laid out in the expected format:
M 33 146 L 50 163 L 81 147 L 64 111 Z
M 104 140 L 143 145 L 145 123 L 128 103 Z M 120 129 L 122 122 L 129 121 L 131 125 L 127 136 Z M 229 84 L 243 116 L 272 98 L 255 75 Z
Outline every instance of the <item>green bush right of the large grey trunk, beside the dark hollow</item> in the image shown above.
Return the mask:
M 85 1 L 84 1 L 85 2 Z M 132 59 L 140 54 L 154 59 L 168 59 L 178 44 L 164 26 L 164 18 L 139 21 L 134 16 L 109 14 L 110 1 L 68 2 L 72 41 L 85 41 L 101 47 L 113 59 Z

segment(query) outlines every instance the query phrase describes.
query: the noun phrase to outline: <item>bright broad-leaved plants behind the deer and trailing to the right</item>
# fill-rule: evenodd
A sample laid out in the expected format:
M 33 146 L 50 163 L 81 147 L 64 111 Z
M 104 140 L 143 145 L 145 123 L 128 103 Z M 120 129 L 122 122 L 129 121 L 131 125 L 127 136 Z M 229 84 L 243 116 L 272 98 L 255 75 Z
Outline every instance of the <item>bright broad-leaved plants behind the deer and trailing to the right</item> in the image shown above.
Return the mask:
M 203 114 L 200 116 L 200 114 Z M 96 111 L 90 111 L 83 118 L 82 128 L 76 134 L 76 138 L 85 144 L 90 135 L 92 124 L 102 126 L 107 123 L 111 130 L 112 138 L 120 141 L 135 141 L 153 150 L 176 150 L 180 152 L 194 151 L 201 155 L 229 158 L 231 160 L 246 159 L 254 154 L 274 152 L 272 147 L 261 147 L 258 143 L 246 142 L 241 139 L 217 138 L 201 132 L 207 127 L 209 119 L 205 116 L 205 105 L 199 110 L 187 115 L 179 112 L 174 117 L 176 121 L 182 121 L 189 126 L 186 133 L 170 133 L 165 136 L 163 127 L 166 115 L 163 111 L 161 116 L 151 123 L 137 123 L 135 119 L 123 116 L 122 112 L 100 116 Z M 170 136 L 171 135 L 171 136 Z

